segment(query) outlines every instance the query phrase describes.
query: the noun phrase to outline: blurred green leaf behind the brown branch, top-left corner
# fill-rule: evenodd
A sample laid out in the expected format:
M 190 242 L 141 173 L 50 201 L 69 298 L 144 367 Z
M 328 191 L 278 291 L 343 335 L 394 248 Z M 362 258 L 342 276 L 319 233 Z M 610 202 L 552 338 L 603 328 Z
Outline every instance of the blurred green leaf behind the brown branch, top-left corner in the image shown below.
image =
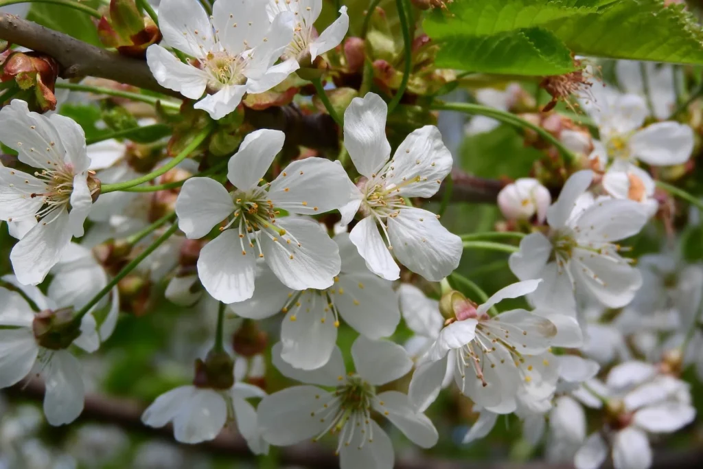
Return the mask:
M 86 5 L 97 8 L 100 4 L 97 0 L 82 2 Z M 39 23 L 51 30 L 69 34 L 76 39 L 85 41 L 93 46 L 101 46 L 98 31 L 93 24 L 91 15 L 67 8 L 61 5 L 52 4 L 32 4 L 27 20 Z

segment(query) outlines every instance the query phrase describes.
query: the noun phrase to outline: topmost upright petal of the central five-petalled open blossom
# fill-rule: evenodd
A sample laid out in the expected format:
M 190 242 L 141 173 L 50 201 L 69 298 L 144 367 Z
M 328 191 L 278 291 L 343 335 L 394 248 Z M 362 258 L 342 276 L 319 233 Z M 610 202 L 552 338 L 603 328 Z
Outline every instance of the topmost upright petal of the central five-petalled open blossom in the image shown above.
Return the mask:
M 227 165 L 227 179 L 236 188 L 257 186 L 283 148 L 285 134 L 280 130 L 261 129 L 247 134 L 239 150 Z

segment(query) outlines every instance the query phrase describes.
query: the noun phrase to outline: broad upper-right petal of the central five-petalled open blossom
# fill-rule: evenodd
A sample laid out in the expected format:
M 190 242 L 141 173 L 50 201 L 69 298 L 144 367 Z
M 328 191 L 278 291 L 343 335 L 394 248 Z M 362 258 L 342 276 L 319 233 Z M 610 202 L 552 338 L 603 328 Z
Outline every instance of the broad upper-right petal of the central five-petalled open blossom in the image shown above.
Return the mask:
M 285 176 L 284 176 L 285 174 Z M 314 215 L 344 207 L 351 194 L 341 165 L 324 158 L 290 163 L 271 183 L 269 198 L 288 212 Z

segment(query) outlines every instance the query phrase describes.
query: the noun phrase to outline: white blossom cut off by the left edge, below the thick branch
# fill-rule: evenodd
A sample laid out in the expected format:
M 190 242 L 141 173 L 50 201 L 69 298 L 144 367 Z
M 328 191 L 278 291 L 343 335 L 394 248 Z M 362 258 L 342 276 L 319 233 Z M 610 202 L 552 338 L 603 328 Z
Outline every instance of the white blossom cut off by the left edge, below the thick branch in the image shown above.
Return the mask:
M 37 285 L 71 237 L 83 236 L 93 203 L 85 134 L 68 117 L 30 113 L 15 99 L 0 110 L 0 141 L 37 168 L 32 175 L 0 166 L 0 220 L 34 225 L 11 252 L 13 269 L 20 283 Z

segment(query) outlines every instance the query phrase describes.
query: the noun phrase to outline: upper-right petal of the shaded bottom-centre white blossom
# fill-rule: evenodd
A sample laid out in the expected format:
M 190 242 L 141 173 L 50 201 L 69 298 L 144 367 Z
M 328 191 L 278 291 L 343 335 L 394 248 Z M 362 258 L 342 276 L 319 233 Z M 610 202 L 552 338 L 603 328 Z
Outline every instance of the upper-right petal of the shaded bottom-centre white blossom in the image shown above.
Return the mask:
M 354 340 L 352 357 L 356 373 L 372 385 L 390 383 L 413 368 L 413 361 L 400 345 L 388 340 L 370 340 L 363 335 Z

